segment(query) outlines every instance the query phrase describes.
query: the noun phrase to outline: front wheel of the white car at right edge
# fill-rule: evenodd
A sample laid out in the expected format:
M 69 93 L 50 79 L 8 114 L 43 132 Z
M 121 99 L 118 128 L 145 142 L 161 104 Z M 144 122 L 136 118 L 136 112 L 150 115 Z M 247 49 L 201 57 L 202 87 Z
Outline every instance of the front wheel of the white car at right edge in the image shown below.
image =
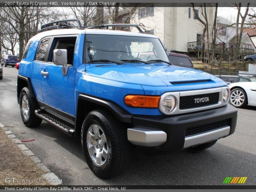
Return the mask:
M 240 94 L 240 92 L 241 92 L 241 94 Z M 235 97 L 236 97 L 236 95 L 239 95 L 239 94 L 240 94 L 240 96 L 236 100 Z M 231 105 L 233 105 L 234 107 L 236 107 L 236 108 L 244 108 L 244 107 L 246 107 L 247 104 L 248 104 L 248 99 L 247 99 L 246 92 L 242 88 L 232 89 L 231 92 L 230 92 L 229 103 Z

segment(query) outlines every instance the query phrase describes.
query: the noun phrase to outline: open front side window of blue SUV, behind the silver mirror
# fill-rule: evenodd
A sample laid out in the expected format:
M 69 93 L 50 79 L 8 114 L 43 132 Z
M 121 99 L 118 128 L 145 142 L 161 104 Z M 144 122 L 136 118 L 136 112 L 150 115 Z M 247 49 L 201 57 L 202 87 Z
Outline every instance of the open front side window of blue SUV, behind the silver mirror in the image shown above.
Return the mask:
M 49 61 L 50 62 L 53 61 L 54 49 L 67 49 L 68 64 L 73 65 L 75 45 L 76 45 L 76 37 L 54 38 Z

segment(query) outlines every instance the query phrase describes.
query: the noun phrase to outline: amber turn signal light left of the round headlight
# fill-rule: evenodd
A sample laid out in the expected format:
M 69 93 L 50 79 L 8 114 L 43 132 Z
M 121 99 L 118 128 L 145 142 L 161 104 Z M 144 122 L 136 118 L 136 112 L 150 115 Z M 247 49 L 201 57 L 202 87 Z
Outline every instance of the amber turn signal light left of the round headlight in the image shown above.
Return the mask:
M 158 108 L 160 96 L 126 95 L 124 103 L 129 107 Z

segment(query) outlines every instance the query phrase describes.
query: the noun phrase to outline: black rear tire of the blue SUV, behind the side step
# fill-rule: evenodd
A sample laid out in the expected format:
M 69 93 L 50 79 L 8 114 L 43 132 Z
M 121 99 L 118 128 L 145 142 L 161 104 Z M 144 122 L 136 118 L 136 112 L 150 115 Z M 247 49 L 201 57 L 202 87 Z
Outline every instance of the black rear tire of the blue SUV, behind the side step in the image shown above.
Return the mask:
M 26 97 L 27 102 L 22 103 L 23 97 L 24 97 L 24 99 Z M 23 110 L 22 110 L 22 105 L 25 106 L 25 103 L 27 103 L 27 106 L 28 106 L 27 113 L 23 113 Z M 27 127 L 36 127 L 42 123 L 42 119 L 38 118 L 35 115 L 36 109 L 39 109 L 36 99 L 31 97 L 28 87 L 24 87 L 20 92 L 20 115 L 21 115 L 21 119 L 22 119 L 23 123 Z M 25 114 L 28 114 L 28 116 L 26 116 Z

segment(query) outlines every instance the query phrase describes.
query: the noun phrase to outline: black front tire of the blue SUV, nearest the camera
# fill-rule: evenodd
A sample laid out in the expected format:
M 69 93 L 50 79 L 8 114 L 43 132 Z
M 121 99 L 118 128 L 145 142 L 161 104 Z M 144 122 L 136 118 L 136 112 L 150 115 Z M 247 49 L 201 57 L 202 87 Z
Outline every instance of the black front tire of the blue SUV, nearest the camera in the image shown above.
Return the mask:
M 104 161 L 102 165 L 98 165 L 97 162 L 95 162 L 96 160 L 93 160 L 94 155 L 95 158 L 97 158 L 96 152 L 91 152 L 92 155 L 89 154 L 89 145 L 92 147 L 93 143 L 90 141 L 87 142 L 87 138 L 90 137 L 87 136 L 87 134 L 92 129 L 92 126 L 94 137 L 91 136 L 91 138 L 96 137 L 94 126 L 102 129 L 101 136 L 103 133 L 106 136 L 106 142 L 103 146 L 105 149 L 108 149 L 108 155 L 106 159 L 102 158 L 103 155 L 100 157 L 100 162 L 102 159 Z M 85 117 L 81 131 L 82 148 L 86 163 L 96 176 L 103 179 L 113 178 L 124 172 L 127 168 L 130 159 L 131 146 L 127 140 L 127 134 L 125 132 L 126 129 L 124 129 L 118 120 L 106 109 L 93 110 Z M 98 137 L 100 138 L 98 141 L 97 139 L 95 139 L 95 141 L 99 143 L 101 141 L 101 136 Z M 102 145 L 96 143 L 92 150 L 97 151 L 97 146 L 95 145 L 98 146 L 98 149 L 100 149 L 100 146 L 102 147 Z

